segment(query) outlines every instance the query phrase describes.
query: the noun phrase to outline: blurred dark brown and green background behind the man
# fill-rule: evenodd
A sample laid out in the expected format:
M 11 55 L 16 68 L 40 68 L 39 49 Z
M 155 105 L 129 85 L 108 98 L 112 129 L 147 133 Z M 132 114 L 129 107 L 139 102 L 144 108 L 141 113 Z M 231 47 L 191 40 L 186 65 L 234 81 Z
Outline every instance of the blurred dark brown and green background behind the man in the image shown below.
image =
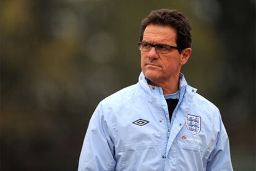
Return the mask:
M 234 170 L 255 170 L 255 1 L 1 0 L 1 170 L 77 170 L 101 99 L 137 82 L 140 22 L 192 25 L 182 72 L 220 108 Z

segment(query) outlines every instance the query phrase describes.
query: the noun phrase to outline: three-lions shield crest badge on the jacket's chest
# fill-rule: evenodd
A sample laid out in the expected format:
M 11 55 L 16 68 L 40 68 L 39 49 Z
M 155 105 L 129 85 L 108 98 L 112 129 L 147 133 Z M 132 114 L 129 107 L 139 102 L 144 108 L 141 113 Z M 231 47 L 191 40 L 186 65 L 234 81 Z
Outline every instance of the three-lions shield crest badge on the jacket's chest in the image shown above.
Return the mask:
M 186 127 L 192 134 L 200 133 L 201 117 L 195 115 L 187 115 Z

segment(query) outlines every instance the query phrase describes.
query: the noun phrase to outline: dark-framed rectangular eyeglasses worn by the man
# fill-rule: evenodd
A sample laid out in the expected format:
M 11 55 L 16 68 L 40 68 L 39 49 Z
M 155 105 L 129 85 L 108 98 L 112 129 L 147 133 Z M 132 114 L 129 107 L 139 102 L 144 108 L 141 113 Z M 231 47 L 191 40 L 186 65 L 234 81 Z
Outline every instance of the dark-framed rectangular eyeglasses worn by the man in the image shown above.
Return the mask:
M 165 44 L 150 44 L 147 42 L 139 42 L 138 43 L 139 50 L 142 52 L 149 52 L 152 47 L 156 49 L 156 52 L 160 54 L 167 54 L 170 52 L 172 49 L 181 49 L 177 46 L 169 46 Z

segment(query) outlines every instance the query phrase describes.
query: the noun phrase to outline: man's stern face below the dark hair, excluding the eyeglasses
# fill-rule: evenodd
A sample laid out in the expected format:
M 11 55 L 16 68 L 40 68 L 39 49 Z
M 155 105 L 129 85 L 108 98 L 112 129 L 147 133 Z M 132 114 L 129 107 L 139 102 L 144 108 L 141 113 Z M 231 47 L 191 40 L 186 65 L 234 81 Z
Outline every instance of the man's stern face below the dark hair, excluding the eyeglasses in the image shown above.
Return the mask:
M 148 25 L 145 28 L 142 42 L 177 46 L 176 30 L 160 25 Z M 141 67 L 145 77 L 153 85 L 161 85 L 172 79 L 179 78 L 182 54 L 172 49 L 167 54 L 158 54 L 155 48 L 149 52 L 141 52 Z

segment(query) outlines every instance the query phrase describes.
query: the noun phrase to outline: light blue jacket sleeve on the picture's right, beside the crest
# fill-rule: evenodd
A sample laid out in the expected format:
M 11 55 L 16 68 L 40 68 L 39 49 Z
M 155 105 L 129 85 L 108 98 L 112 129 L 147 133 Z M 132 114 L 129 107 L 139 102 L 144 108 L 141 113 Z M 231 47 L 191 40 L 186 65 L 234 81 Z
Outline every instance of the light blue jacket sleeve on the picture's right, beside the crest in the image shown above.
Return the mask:
M 220 112 L 219 112 L 220 114 Z M 215 149 L 211 152 L 207 162 L 207 171 L 233 170 L 229 149 L 228 134 L 220 117 L 220 131 L 216 140 Z

